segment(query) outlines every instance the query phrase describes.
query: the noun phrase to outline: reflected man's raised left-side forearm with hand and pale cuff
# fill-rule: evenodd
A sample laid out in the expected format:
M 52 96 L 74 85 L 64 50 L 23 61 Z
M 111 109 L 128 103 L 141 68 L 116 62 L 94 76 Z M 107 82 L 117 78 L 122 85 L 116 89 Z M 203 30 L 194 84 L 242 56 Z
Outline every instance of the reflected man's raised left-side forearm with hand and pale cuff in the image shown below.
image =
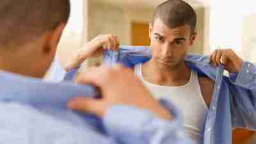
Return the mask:
M 57 58 L 52 62 L 52 66 L 49 71 L 51 81 L 72 81 L 77 76 L 81 64 L 92 57 L 102 56 L 104 53 L 104 45 L 106 49 L 113 52 L 118 51 L 119 41 L 115 35 L 99 35 L 90 42 L 86 43 L 81 49 L 74 52 L 70 61 L 67 62 L 65 67 L 61 67 L 60 61 Z

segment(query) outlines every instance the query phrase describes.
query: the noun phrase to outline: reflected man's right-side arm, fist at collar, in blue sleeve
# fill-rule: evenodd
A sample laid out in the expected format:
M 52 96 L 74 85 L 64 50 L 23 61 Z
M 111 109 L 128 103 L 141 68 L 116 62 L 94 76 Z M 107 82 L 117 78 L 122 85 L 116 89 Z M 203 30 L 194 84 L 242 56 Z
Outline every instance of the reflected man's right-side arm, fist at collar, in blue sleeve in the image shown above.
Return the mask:
M 256 68 L 243 61 L 231 49 L 216 50 L 211 56 L 216 65 L 222 64 L 229 72 L 225 77 L 230 96 L 233 127 L 256 129 Z

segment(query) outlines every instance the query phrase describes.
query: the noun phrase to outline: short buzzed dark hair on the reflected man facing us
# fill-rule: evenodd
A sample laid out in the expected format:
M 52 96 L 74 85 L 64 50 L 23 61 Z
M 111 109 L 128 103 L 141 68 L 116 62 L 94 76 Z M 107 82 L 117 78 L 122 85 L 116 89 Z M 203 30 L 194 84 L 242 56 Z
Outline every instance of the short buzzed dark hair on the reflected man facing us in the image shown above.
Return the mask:
M 157 19 L 162 20 L 170 29 L 188 24 L 191 33 L 194 33 L 196 28 L 195 10 L 182 0 L 168 0 L 157 6 L 154 10 L 153 24 Z

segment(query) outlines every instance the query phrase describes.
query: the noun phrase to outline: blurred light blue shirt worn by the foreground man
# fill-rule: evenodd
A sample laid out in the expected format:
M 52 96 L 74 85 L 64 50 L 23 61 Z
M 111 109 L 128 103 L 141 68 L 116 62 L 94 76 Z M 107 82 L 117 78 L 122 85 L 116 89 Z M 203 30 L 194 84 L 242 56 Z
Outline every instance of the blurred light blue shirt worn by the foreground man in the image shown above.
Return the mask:
M 65 72 L 54 70 L 64 77 Z M 72 97 L 97 95 L 90 85 L 49 83 L 0 71 L 0 93 L 1 144 L 191 143 L 180 111 L 164 100 L 163 106 L 175 116 L 172 122 L 131 106 L 113 106 L 102 119 L 67 109 Z

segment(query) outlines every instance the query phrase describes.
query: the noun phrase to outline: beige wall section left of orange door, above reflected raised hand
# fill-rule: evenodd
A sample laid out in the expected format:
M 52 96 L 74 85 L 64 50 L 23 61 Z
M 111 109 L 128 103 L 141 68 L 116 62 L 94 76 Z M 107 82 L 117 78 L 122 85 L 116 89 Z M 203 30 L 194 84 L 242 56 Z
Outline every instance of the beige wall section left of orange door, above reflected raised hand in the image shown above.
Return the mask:
M 122 44 L 127 44 L 124 10 L 108 4 L 92 1 L 89 13 L 89 39 L 97 35 L 114 33 Z

